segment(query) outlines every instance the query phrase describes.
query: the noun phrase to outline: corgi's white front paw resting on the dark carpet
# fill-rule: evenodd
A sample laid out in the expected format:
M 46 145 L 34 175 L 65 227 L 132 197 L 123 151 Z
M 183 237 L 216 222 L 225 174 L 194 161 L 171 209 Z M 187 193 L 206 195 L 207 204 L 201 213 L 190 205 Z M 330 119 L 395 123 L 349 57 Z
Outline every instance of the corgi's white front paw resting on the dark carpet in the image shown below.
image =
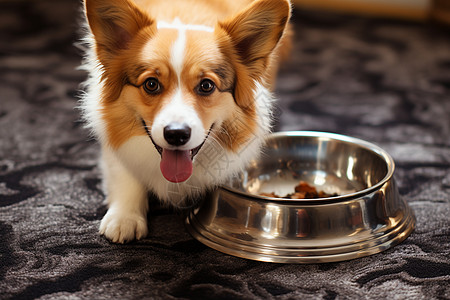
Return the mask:
M 147 219 L 139 213 L 121 212 L 109 209 L 100 223 L 100 234 L 113 243 L 139 240 L 148 233 Z

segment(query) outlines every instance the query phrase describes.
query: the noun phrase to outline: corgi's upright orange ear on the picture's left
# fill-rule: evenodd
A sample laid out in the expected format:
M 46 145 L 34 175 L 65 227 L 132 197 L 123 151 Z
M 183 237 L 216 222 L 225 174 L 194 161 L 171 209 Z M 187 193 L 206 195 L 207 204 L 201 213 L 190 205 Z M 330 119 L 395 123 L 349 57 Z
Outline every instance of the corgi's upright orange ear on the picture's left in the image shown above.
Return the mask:
M 105 55 L 126 49 L 139 30 L 153 24 L 129 0 L 85 0 L 85 10 L 97 51 L 106 52 Z

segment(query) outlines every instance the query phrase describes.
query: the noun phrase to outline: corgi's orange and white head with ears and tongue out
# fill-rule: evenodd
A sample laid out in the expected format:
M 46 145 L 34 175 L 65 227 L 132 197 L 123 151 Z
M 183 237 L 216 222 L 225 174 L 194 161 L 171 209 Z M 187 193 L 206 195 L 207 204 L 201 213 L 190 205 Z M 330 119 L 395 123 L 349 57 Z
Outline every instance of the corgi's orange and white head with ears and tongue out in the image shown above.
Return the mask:
M 252 137 L 255 87 L 286 28 L 290 4 L 258 0 L 209 23 L 196 23 L 193 13 L 162 19 L 130 0 L 86 0 L 103 72 L 107 140 L 119 148 L 148 134 L 171 182 L 190 177 L 206 139 L 236 152 Z

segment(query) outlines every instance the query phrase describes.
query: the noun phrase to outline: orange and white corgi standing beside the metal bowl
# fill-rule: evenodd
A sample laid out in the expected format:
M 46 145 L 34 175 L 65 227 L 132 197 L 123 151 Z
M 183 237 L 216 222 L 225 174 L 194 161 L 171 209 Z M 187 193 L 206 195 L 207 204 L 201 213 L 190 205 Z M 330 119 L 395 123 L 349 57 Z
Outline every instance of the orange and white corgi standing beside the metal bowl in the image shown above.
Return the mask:
M 289 0 L 85 0 L 81 108 L 101 144 L 100 234 L 147 235 L 148 193 L 175 207 L 241 171 L 271 130 Z

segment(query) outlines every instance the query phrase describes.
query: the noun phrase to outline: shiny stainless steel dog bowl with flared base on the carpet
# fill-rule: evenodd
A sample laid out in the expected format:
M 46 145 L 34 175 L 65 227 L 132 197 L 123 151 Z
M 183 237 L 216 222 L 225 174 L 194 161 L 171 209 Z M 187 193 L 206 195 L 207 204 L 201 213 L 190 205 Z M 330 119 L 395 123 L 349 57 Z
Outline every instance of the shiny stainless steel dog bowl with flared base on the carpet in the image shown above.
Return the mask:
M 190 233 L 227 254 L 279 263 L 371 255 L 403 241 L 415 218 L 395 185 L 394 161 L 366 141 L 324 132 L 271 135 L 263 154 L 210 193 L 186 220 Z M 292 200 L 300 181 L 338 196 Z

